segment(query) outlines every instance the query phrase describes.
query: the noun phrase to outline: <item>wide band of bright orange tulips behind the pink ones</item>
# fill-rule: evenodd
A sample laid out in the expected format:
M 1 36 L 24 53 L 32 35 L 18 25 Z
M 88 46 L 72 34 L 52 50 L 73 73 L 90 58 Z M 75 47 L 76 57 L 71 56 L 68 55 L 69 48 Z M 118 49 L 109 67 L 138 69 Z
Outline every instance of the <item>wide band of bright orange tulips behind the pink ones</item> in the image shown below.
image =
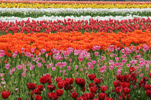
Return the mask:
M 142 47 L 144 44 L 151 48 L 150 31 L 136 30 L 132 33 L 84 33 L 80 32 L 57 32 L 56 34 L 34 33 L 24 34 L 15 33 L 0 36 L 0 50 L 5 50 L 6 55 L 11 56 L 11 52 L 18 51 L 21 54 L 21 48 L 25 48 L 26 52 L 30 52 L 31 48 L 35 48 L 35 54 L 39 54 L 42 49 L 46 49 L 51 53 L 51 49 L 66 50 L 68 47 L 74 49 L 91 50 L 94 45 L 101 46 L 101 50 L 106 50 L 109 45 L 124 48 L 133 45 Z

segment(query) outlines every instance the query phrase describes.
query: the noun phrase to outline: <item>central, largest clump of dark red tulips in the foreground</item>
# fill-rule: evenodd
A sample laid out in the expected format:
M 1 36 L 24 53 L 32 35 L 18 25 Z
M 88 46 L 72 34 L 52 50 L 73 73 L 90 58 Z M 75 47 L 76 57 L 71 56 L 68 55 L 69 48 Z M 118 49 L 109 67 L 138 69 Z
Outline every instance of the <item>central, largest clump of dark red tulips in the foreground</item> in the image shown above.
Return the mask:
M 94 81 L 94 83 L 90 83 L 89 84 L 89 88 L 90 88 L 90 93 L 84 93 L 83 96 L 79 96 L 79 94 L 76 92 L 76 90 L 72 90 L 75 89 L 72 84 L 74 82 L 73 78 L 65 78 L 64 80 L 61 77 L 56 78 L 56 82 L 57 82 L 57 86 L 59 89 L 56 89 L 56 86 L 52 85 L 52 81 L 51 81 L 51 76 L 50 75 L 44 75 L 42 77 L 40 77 L 40 83 L 42 84 L 46 84 L 48 83 L 48 89 L 50 91 L 50 93 L 48 93 L 48 98 L 50 100 L 57 100 L 60 96 L 63 95 L 64 90 L 65 91 L 70 91 L 70 95 L 71 98 L 73 99 L 77 99 L 77 100 L 85 100 L 85 99 L 94 99 L 95 94 L 97 92 L 97 90 L 102 91 L 102 93 L 98 94 L 98 98 L 99 100 L 113 100 L 112 98 L 107 97 L 107 94 L 105 94 L 105 91 L 107 90 L 107 86 L 99 86 L 99 83 L 101 82 L 100 78 L 96 78 L 95 74 L 89 74 L 88 75 L 89 79 L 91 81 Z M 81 88 L 81 90 L 83 92 L 85 92 L 85 79 L 83 78 L 75 78 L 75 83 Z M 95 86 L 96 85 L 96 86 Z M 35 96 L 35 100 L 41 100 L 42 96 L 40 96 L 41 91 L 43 91 L 44 86 L 43 85 L 38 85 L 38 88 L 36 89 L 36 84 L 34 83 L 27 83 L 27 87 L 30 90 L 33 90 L 29 93 L 29 95 L 31 96 L 29 99 L 33 100 L 33 94 L 37 94 Z M 56 89 L 56 92 L 54 92 L 54 90 Z M 99 91 L 98 91 L 99 92 Z

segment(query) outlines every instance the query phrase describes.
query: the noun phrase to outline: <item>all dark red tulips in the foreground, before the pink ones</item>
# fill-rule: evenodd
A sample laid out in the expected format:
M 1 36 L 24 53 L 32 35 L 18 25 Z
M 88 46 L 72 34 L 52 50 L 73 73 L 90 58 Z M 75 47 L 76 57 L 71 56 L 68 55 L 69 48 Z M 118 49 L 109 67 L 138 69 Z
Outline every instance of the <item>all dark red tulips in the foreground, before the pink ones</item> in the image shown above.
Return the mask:
M 119 100 L 123 98 L 123 100 L 129 100 L 130 98 L 130 92 L 133 89 L 137 91 L 137 83 L 138 79 L 136 78 L 137 74 L 134 73 L 135 68 L 130 67 L 129 68 L 129 73 L 126 75 L 116 75 L 117 80 L 113 82 L 114 84 L 114 89 L 112 92 L 115 92 L 118 95 Z M 149 73 L 149 77 L 151 77 L 151 73 Z M 83 78 L 75 78 L 75 83 L 80 87 L 80 90 L 82 90 L 83 95 L 79 96 L 80 93 L 77 93 L 76 86 L 73 86 L 74 79 L 73 78 L 65 78 L 62 79 L 61 77 L 58 77 L 55 79 L 57 82 L 58 89 L 57 87 L 52 85 L 52 76 L 49 74 L 46 74 L 42 77 L 40 77 L 39 81 L 43 85 L 36 85 L 34 83 L 27 83 L 27 87 L 29 90 L 31 90 L 29 94 L 29 100 L 41 100 L 41 92 L 46 91 L 46 83 L 48 83 L 47 88 L 49 89 L 48 92 L 48 98 L 50 100 L 57 100 L 59 97 L 61 97 L 64 93 L 64 91 L 70 91 L 70 96 L 72 99 L 77 99 L 77 100 L 113 100 L 113 98 L 109 97 L 107 94 L 107 86 L 100 86 L 99 84 L 103 82 L 101 78 L 96 78 L 95 74 L 89 74 L 88 78 L 92 83 L 89 83 L 89 88 L 86 88 L 86 81 Z M 146 90 L 146 95 L 151 98 L 151 85 L 147 84 L 149 78 L 148 77 L 143 77 L 142 80 L 138 83 L 139 89 L 144 89 Z M 130 86 L 132 86 L 130 88 Z M 45 88 L 45 89 L 44 89 Z M 56 89 L 56 91 L 55 91 Z M 87 90 L 86 90 L 87 89 Z M 86 91 L 90 91 L 90 93 L 84 93 Z M 106 93 L 105 93 L 106 92 Z M 122 93 L 122 94 L 121 94 Z M 34 98 L 33 95 L 35 94 Z M 2 97 L 4 99 L 7 99 L 10 95 L 10 92 L 8 91 L 3 91 L 2 92 Z M 98 99 L 94 99 L 98 96 Z M 22 98 L 18 98 L 18 100 L 22 100 Z

